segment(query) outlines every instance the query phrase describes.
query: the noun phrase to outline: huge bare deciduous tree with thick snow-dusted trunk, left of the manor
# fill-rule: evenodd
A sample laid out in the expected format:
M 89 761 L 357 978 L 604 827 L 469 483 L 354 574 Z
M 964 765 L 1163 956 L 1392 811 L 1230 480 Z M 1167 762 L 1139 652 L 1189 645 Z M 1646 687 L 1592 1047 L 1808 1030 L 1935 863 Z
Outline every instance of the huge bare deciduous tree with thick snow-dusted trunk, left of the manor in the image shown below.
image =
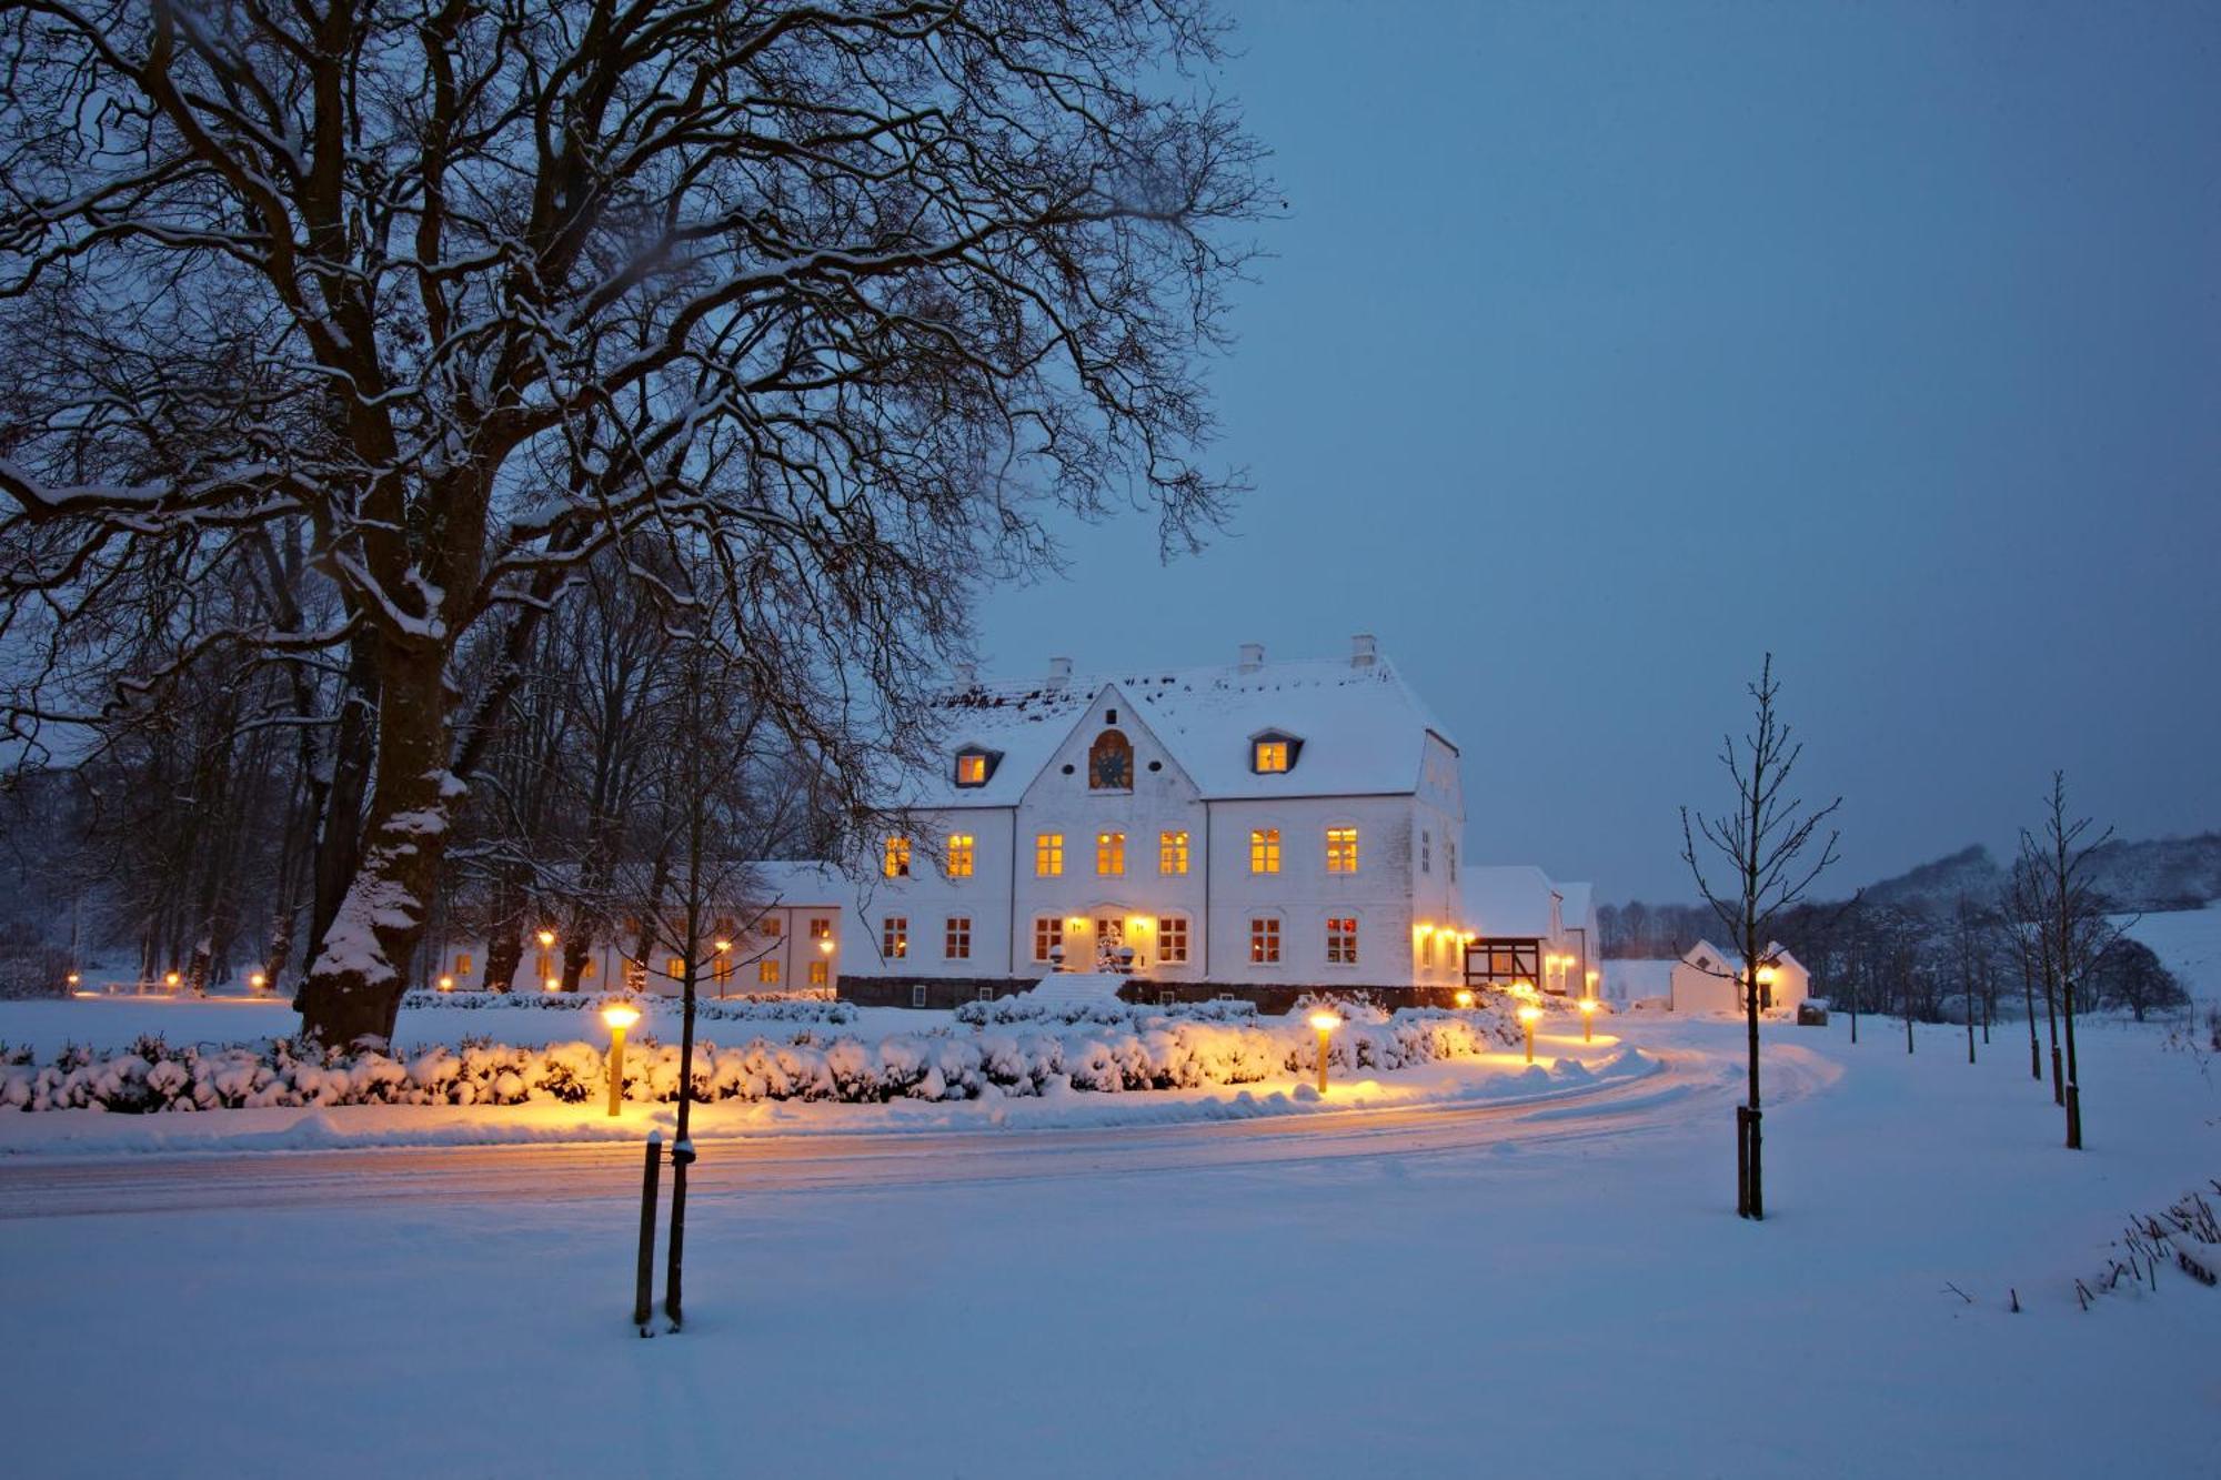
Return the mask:
M 329 676 L 329 1042 L 391 1033 L 504 713 L 513 664 L 460 693 L 462 660 L 633 536 L 715 578 L 689 598 L 860 800 L 1048 511 L 1128 498 L 1173 549 L 1233 487 L 1195 360 L 1262 198 L 1188 80 L 1219 40 L 1208 0 L 7 11 L 13 733 Z M 329 600 L 193 600 L 293 542 Z M 147 591 L 153 667 L 107 631 Z

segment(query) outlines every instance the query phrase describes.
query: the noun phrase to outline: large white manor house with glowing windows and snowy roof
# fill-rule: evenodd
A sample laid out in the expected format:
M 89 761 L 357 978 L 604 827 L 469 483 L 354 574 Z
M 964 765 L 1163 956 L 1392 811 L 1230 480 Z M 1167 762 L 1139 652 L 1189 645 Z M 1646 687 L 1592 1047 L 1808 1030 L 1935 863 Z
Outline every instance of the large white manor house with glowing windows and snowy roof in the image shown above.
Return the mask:
M 1464 984 L 1457 744 L 1370 636 L 1215 669 L 1057 658 L 966 680 L 942 716 L 946 764 L 864 860 L 842 996 L 942 1004 L 1057 969 L 1179 996 Z

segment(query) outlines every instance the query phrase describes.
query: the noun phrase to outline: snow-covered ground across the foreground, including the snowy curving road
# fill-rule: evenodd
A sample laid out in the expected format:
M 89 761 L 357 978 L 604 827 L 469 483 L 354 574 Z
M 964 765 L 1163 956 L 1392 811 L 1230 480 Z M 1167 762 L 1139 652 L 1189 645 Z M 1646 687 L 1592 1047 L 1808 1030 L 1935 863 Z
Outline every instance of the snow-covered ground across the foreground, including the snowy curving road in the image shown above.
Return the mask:
M 1739 1029 L 1615 1029 L 1690 1093 L 704 1147 L 689 1327 L 653 1342 L 624 1320 L 635 1209 L 535 1196 L 555 1151 L 229 1158 L 278 1184 L 51 1218 L 24 1178 L 69 1164 L 7 1158 L 9 1467 L 2221 1471 L 2221 1291 L 2074 1296 L 2130 1213 L 2221 1176 L 2221 1067 L 2092 1024 L 2068 1153 L 2010 1031 L 1970 1067 L 1954 1029 L 1915 1056 L 1770 1029 L 1755 1227 Z M 440 1158 L 513 1173 L 442 1184 Z M 100 1167 L 191 1191 L 215 1162 Z

